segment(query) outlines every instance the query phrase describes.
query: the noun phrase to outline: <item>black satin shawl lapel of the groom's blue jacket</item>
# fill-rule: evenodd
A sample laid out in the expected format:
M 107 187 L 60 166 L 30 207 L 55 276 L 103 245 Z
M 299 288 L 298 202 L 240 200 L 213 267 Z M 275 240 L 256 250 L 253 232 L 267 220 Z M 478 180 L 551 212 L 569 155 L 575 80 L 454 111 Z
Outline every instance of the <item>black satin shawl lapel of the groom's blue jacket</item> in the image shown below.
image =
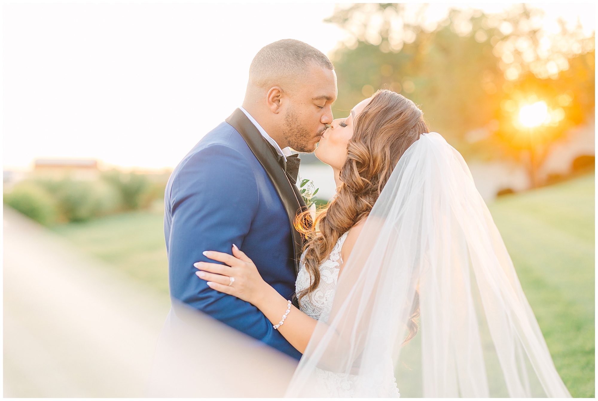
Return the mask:
M 286 177 L 276 156 L 274 156 L 273 151 L 270 149 L 271 145 L 264 139 L 257 127 L 245 116 L 243 111 L 237 108 L 225 121 L 241 134 L 255 157 L 264 169 L 266 169 L 268 177 L 270 177 L 270 181 L 272 181 L 274 189 L 276 189 L 285 207 L 286 215 L 289 218 L 289 225 L 291 226 L 293 250 L 295 253 L 295 275 L 297 275 L 299 272 L 299 258 L 301 257 L 301 249 L 303 248 L 303 239 L 301 238 L 301 234 L 295 230 L 294 223 L 297 212 L 302 208 L 306 208 L 303 197 L 297 187 L 291 184 L 289 178 Z

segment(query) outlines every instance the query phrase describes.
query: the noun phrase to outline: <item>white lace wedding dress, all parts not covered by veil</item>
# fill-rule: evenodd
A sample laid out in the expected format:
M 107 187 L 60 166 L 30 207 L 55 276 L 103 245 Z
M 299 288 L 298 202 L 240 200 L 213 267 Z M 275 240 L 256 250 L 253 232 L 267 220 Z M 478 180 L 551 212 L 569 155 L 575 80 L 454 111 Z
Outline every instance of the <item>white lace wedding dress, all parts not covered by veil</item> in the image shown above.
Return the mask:
M 325 305 L 334 297 L 338 280 L 338 268 L 343 259 L 341 259 L 340 251 L 343 247 L 344 240 L 347 238 L 347 233 L 338 238 L 337 243 L 332 248 L 332 252 L 320 266 L 320 283 L 318 288 L 309 295 L 301 299 L 301 311 L 310 317 L 319 320 Z M 295 282 L 295 290 L 297 293 L 305 290 L 310 285 L 310 275 L 305 268 L 304 255 L 301 255 L 301 263 L 297 281 Z M 380 396 L 382 397 L 400 397 L 399 390 L 396 387 L 395 376 L 393 374 L 392 360 L 388 360 L 388 375 L 385 375 L 382 382 L 385 385 L 380 388 Z M 356 379 L 358 376 L 349 375 L 346 373 L 334 373 L 328 370 L 316 368 L 316 384 L 321 387 L 321 391 L 329 394 L 329 397 L 348 398 L 355 395 Z

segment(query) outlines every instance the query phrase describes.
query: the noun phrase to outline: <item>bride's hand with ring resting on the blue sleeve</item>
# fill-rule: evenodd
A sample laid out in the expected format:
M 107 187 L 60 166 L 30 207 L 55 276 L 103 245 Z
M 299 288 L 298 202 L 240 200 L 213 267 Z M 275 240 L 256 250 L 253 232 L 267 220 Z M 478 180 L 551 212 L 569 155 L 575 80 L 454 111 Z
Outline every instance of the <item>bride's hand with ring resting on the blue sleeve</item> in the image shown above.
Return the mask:
M 230 294 L 259 307 L 259 300 L 269 293 L 270 284 L 261 277 L 254 262 L 233 244 L 233 255 L 205 251 L 204 256 L 219 263 L 197 262 L 197 277 L 208 281 L 208 286 L 221 293 Z

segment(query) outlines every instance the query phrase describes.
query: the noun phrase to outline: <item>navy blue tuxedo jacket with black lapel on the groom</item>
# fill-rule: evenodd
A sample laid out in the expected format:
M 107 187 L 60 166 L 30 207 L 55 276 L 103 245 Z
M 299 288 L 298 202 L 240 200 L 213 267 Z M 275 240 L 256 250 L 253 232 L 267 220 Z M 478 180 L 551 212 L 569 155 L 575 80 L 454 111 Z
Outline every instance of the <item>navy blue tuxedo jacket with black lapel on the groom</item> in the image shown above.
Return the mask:
M 170 296 L 300 359 L 258 308 L 209 288 L 193 263 L 213 262 L 202 252 L 230 254 L 236 244 L 264 280 L 291 299 L 301 252 L 292 222 L 302 206 L 271 145 L 242 111 L 234 111 L 185 156 L 166 186 Z

